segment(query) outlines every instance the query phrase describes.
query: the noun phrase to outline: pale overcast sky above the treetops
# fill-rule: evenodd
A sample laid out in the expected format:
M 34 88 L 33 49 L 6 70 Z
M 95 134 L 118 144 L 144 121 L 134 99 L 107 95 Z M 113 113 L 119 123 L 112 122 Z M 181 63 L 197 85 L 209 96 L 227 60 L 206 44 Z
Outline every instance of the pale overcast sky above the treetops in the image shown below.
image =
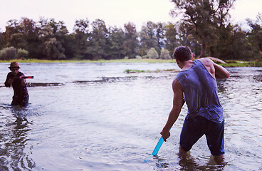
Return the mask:
M 86 18 L 103 19 L 107 26 L 118 28 L 132 22 L 140 30 L 147 21 L 173 21 L 169 11 L 174 7 L 169 0 L 0 0 L 0 4 L 1 32 L 10 19 L 38 21 L 41 16 L 64 21 L 70 32 L 76 19 Z M 244 23 L 247 18 L 255 20 L 261 9 L 262 0 L 236 0 L 231 16 L 235 23 Z

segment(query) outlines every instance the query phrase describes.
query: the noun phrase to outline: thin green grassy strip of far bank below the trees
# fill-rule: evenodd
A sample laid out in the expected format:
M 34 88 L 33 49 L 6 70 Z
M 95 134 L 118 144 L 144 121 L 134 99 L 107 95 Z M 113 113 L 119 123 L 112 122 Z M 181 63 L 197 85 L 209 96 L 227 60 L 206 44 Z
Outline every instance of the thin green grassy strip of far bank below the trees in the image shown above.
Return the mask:
M 0 60 L 0 63 L 11 63 L 16 61 L 18 63 L 176 63 L 175 60 L 162 59 L 114 59 L 114 60 L 39 60 L 39 59 L 16 59 L 16 60 Z M 224 67 L 262 67 L 262 61 L 226 61 L 226 63 L 219 63 Z

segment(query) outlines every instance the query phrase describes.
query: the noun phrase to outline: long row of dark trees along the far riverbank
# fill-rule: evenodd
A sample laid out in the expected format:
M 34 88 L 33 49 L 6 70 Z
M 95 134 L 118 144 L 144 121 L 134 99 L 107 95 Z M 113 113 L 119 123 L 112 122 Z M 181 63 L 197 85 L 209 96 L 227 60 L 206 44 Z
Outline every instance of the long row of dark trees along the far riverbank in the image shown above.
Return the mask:
M 176 46 L 187 45 L 197 57 L 213 56 L 224 60 L 262 59 L 262 14 L 250 27 L 231 24 L 229 9 L 236 0 L 172 0 L 172 15 L 177 23 L 147 21 L 140 31 L 135 24 L 122 28 L 106 26 L 105 21 L 75 21 L 69 33 L 63 21 L 10 20 L 0 32 L 0 59 L 169 59 Z M 179 16 L 180 15 L 180 16 Z

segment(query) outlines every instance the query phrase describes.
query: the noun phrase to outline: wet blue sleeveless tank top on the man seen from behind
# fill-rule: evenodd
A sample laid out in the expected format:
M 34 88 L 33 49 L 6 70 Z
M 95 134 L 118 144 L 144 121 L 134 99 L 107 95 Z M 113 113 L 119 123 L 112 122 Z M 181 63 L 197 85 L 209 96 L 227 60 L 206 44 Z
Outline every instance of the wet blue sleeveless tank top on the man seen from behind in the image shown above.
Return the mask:
M 188 118 L 200 115 L 215 123 L 221 123 L 224 120 L 216 79 L 211 76 L 201 61 L 195 60 L 191 68 L 180 71 L 177 74 L 177 80 L 182 85 Z

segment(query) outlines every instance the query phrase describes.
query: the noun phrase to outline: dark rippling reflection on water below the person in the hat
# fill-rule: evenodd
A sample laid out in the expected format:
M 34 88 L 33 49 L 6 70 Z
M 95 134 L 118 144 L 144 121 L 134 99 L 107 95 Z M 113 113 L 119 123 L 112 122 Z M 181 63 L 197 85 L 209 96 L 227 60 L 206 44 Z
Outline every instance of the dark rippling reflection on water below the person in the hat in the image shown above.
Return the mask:
M 28 156 L 28 132 L 26 108 L 0 105 L 0 170 L 31 170 L 36 166 Z

